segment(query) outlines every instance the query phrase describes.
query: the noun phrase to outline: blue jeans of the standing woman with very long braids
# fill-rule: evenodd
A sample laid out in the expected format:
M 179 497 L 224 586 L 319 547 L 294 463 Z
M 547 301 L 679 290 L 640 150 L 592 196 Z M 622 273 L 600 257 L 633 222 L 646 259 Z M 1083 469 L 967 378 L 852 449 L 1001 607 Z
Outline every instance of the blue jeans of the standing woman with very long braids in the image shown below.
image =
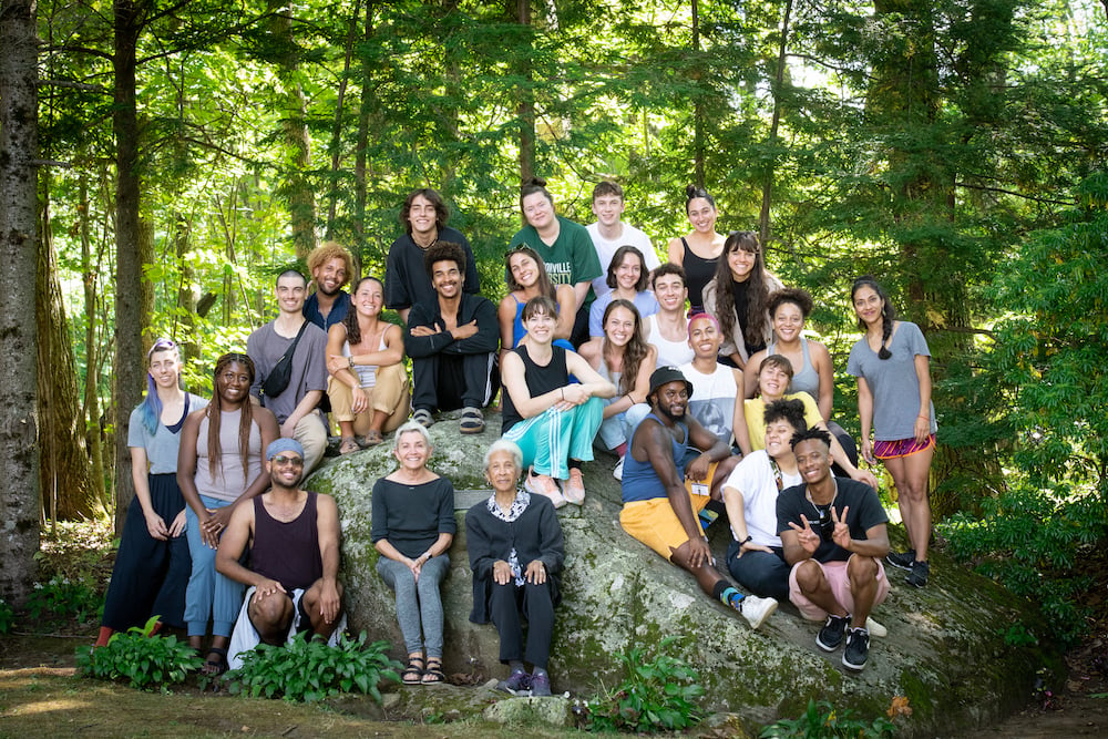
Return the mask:
M 207 495 L 201 495 L 201 503 L 208 510 L 230 505 Z M 249 503 L 247 503 L 249 504 Z M 208 618 L 212 619 L 213 636 L 230 636 L 230 629 L 243 606 L 243 584 L 224 577 L 215 571 L 215 550 L 201 537 L 201 521 L 192 507 L 185 506 L 185 535 L 188 537 L 188 553 L 193 557 L 193 574 L 185 591 L 185 623 L 188 636 L 204 636 Z

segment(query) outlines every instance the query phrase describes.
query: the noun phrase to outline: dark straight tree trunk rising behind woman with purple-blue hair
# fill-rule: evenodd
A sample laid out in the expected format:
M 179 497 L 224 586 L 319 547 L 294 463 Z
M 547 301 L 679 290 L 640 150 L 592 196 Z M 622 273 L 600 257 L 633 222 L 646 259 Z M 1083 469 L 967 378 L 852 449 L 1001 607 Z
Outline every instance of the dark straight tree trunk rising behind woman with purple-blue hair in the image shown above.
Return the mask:
M 151 260 L 140 223 L 138 111 L 135 68 L 138 34 L 148 0 L 115 0 L 115 73 L 112 129 L 115 134 L 115 530 L 122 531 L 127 505 L 134 496 L 127 430 L 131 410 L 142 400 L 145 367 L 143 328 L 150 294 L 142 267 Z M 146 285 L 144 286 L 144 283 Z

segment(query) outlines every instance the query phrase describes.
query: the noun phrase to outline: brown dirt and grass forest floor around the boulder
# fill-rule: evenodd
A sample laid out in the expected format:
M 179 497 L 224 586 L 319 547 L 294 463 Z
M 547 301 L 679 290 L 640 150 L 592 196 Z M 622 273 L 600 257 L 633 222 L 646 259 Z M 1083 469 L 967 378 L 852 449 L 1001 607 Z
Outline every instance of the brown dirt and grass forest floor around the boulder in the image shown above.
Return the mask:
M 106 530 L 80 533 L 60 531 L 44 537 L 48 574 L 76 576 L 95 573 L 105 582 L 111 573 Z M 1054 739 L 1108 736 L 1108 555 L 1087 561 L 1084 569 L 1096 579 L 1086 605 L 1097 618 L 1090 636 L 1067 655 L 1068 678 L 1043 685 L 1027 705 L 1007 719 L 984 729 L 966 730 L 944 739 L 1020 737 Z M 44 579 L 44 578 L 43 578 Z M 486 739 L 522 736 L 587 736 L 573 729 L 519 729 L 481 719 L 445 723 L 449 716 L 404 715 L 382 709 L 368 696 L 348 696 L 316 705 L 246 699 L 226 691 L 201 690 L 195 679 L 162 691 L 140 691 L 122 684 L 84 679 L 76 675 L 74 651 L 95 640 L 93 623 L 39 623 L 17 620 L 16 632 L 0 636 L 0 738 L 40 736 L 81 737 L 451 737 Z M 33 628 L 33 630 L 32 630 Z M 25 630 L 24 630 L 25 629 Z M 470 687 L 442 686 L 396 690 L 472 691 Z M 412 701 L 419 702 L 419 701 Z M 387 705 L 390 705 L 387 702 Z M 724 737 L 719 726 L 691 735 Z

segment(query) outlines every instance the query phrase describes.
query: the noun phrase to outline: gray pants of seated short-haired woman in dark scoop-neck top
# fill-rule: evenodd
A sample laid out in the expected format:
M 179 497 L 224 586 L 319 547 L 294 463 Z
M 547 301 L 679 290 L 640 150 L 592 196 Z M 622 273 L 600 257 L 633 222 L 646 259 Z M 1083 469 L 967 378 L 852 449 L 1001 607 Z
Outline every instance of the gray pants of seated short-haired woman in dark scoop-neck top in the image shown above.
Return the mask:
M 418 583 L 408 565 L 388 557 L 378 558 L 377 572 L 397 594 L 397 620 L 400 622 L 408 654 L 425 651 L 429 658 L 442 659 L 442 597 L 439 584 L 450 572 L 450 557 L 442 554 L 428 560 L 420 569 Z

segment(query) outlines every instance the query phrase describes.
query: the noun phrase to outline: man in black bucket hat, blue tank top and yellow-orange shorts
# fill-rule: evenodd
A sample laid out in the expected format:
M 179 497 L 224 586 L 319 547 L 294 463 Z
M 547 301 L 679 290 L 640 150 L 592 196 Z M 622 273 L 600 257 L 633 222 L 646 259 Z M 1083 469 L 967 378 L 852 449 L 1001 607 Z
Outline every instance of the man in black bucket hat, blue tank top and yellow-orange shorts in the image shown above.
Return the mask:
M 693 384 L 676 367 L 660 367 L 650 376 L 650 414 L 635 430 L 624 458 L 619 525 L 758 628 L 777 609 L 777 601 L 739 593 L 716 569 L 700 526 L 698 513 L 712 497 L 719 500 L 719 486 L 738 458 L 686 414 L 691 392 Z

